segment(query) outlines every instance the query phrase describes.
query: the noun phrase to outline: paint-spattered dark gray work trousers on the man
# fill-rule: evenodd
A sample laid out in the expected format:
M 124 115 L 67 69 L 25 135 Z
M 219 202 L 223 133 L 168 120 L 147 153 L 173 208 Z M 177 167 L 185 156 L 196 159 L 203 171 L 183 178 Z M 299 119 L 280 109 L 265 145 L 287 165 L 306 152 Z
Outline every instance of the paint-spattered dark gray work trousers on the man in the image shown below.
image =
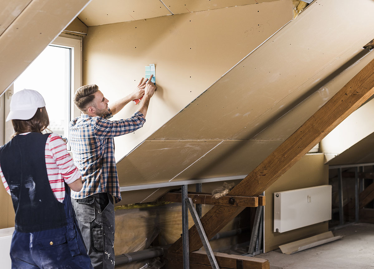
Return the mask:
M 94 269 L 114 269 L 114 204 L 106 192 L 71 203 Z

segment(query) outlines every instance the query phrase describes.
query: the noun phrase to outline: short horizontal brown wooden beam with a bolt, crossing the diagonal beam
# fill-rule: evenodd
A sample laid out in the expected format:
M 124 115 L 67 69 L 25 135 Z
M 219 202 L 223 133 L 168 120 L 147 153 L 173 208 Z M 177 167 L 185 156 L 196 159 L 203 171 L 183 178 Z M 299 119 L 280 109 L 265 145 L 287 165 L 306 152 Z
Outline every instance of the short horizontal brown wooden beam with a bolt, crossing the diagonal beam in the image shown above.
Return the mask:
M 191 198 L 194 204 L 258 207 L 258 197 L 223 196 L 215 199 L 211 194 L 188 193 L 188 198 Z M 159 201 L 181 203 L 182 194 L 177 192 L 168 192 L 165 193 L 165 195 L 163 195 Z

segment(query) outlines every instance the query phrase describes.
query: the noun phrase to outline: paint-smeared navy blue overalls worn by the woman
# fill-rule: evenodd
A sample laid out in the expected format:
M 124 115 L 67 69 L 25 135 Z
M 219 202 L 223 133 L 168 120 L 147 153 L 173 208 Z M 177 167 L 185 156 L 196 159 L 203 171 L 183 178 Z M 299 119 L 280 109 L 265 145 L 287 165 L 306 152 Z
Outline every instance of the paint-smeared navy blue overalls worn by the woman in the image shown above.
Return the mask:
M 16 135 L 0 148 L 0 164 L 15 211 L 12 268 L 92 268 L 65 183 L 64 202 L 53 195 L 45 163 L 49 134 Z

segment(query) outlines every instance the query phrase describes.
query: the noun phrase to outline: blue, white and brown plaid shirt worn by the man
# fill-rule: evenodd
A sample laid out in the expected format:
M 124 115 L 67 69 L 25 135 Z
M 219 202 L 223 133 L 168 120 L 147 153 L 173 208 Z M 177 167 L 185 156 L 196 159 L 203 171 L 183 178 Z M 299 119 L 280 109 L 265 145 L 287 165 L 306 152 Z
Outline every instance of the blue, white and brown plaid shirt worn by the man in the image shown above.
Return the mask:
M 144 115 L 136 112 L 129 119 L 108 120 L 113 117 L 110 109 L 102 117 L 82 114 L 69 125 L 69 141 L 73 161 L 82 174 L 83 188 L 71 190 L 74 199 L 86 198 L 100 192 L 109 192 L 121 201 L 113 137 L 134 132 L 143 126 Z

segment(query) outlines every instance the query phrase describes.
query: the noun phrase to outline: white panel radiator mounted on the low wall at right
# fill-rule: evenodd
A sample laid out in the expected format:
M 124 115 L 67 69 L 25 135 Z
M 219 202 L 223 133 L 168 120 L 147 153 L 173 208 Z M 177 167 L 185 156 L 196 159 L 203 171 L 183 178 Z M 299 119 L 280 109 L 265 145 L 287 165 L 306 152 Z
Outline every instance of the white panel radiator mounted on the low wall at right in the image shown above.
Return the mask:
M 331 220 L 331 185 L 274 193 L 274 232 Z

